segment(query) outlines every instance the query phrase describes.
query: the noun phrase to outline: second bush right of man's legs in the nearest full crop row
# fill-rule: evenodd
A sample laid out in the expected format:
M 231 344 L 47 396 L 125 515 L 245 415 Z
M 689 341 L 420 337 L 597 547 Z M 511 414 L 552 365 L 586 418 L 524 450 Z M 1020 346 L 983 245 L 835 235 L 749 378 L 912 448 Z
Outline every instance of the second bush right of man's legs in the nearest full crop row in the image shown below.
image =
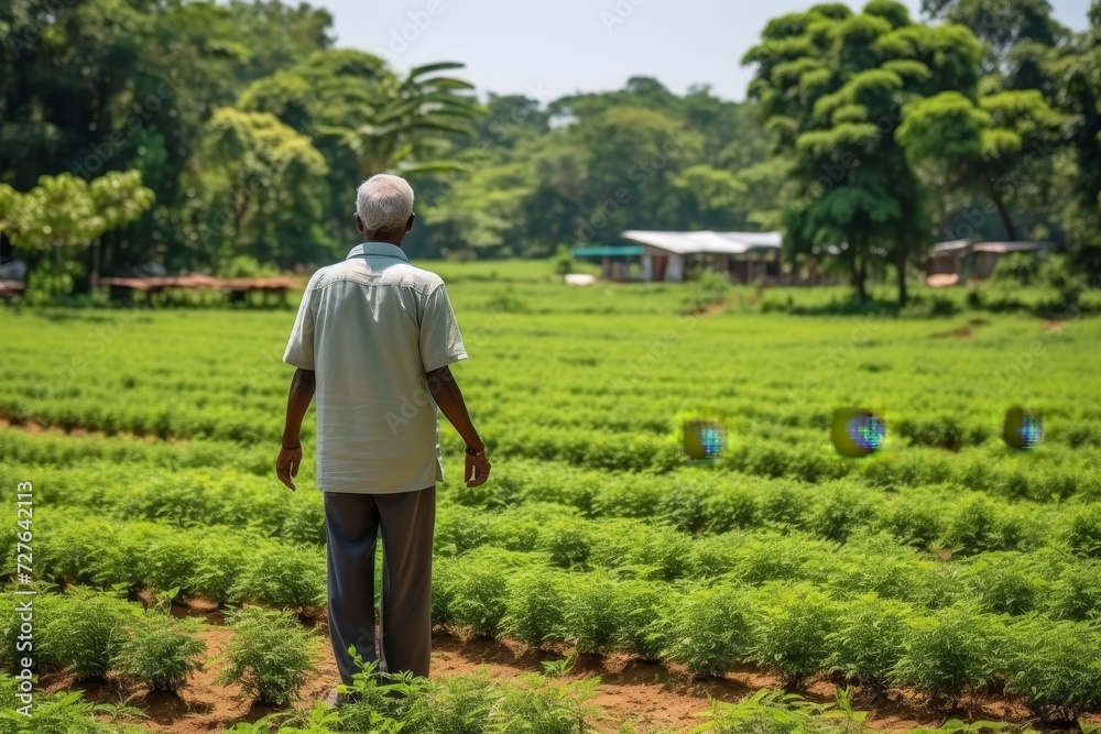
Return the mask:
M 567 610 L 565 591 L 574 576 L 568 578 L 544 568 L 516 576 L 509 584 L 502 631 L 534 647 L 560 638 Z

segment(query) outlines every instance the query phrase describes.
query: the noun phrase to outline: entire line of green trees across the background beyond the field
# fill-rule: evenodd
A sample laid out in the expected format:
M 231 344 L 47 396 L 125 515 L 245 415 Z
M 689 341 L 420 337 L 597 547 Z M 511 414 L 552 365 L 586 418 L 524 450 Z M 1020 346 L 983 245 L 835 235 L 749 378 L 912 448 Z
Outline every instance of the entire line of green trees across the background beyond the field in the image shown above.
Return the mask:
M 401 74 L 335 48 L 307 4 L 13 0 L 0 256 L 18 247 L 32 283 L 63 291 L 87 287 L 96 253 L 105 273 L 320 264 L 356 241 L 356 185 L 391 169 L 429 224 L 417 256 L 780 228 L 789 267 L 861 293 L 893 277 L 903 299 L 928 248 L 966 237 L 1054 240 L 1101 277 L 1101 0 L 1084 33 L 1045 0 L 926 0 L 924 15 L 872 0 L 777 18 L 744 58 L 745 102 L 646 77 L 543 102 L 479 101 L 458 64 Z M 131 206 L 42 235 L 105 191 Z

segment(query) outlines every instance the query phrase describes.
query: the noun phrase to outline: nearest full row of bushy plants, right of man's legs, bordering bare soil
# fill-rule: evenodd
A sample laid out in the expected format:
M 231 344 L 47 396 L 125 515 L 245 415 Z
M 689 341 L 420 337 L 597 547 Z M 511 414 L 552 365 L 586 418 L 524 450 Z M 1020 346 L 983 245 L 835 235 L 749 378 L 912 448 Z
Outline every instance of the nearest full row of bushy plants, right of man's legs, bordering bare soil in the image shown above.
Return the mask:
M 602 573 L 510 569 L 508 561 L 437 567 L 434 614 L 470 634 L 579 651 L 628 649 L 721 676 L 752 665 L 802 687 L 811 677 L 884 691 L 912 688 L 937 704 L 1004 688 L 1044 721 L 1101 708 L 1101 627 L 992 614 L 960 602 L 933 612 L 874 593 L 836 599 L 806 582 L 720 580 L 674 589 Z

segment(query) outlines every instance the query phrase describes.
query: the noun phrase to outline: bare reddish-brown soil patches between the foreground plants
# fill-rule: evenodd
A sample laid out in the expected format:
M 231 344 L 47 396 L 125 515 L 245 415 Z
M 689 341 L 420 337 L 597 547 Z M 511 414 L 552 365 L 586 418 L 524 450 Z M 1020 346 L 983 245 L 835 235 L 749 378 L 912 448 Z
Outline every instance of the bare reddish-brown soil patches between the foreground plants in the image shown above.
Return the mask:
M 183 610 L 174 612 L 179 613 Z M 118 680 L 76 686 L 90 701 L 117 703 L 130 695 L 129 703 L 149 714 L 141 723 L 155 732 L 185 734 L 188 732 L 221 732 L 238 722 L 252 722 L 272 713 L 273 709 L 253 704 L 240 698 L 237 686 L 215 682 L 221 669 L 219 655 L 232 632 L 217 625 L 220 613 L 214 610 L 190 609 L 193 614 L 215 622 L 199 636 L 207 644 L 207 660 L 179 695 L 149 693 L 144 689 L 128 690 Z M 185 612 L 186 613 L 186 612 Z M 328 638 L 324 624 L 317 625 L 317 675 L 302 691 L 299 705 L 308 706 L 324 700 L 337 681 Z M 557 653 L 536 650 L 512 640 L 461 640 L 446 632 L 436 634 L 433 653 L 433 675 L 448 677 L 481 672 L 491 678 L 511 679 L 523 673 L 541 672 L 544 660 L 559 659 Z M 641 662 L 628 655 L 608 657 L 580 656 L 575 660 L 566 681 L 599 677 L 597 697 L 592 701 L 600 709 L 597 728 L 611 734 L 630 722 L 637 732 L 687 732 L 698 724 L 699 713 L 708 709 L 708 700 L 738 701 L 762 688 L 780 688 L 781 681 L 757 670 L 742 669 L 719 680 L 701 681 L 675 667 Z M 74 687 L 65 676 L 43 676 L 47 691 Z M 836 687 L 826 680 L 816 680 L 803 693 L 819 702 L 832 701 Z M 1028 712 L 1017 702 L 991 695 L 964 702 L 955 711 L 936 710 L 908 691 L 891 691 L 885 701 L 861 700 L 859 692 L 855 708 L 872 711 L 869 725 L 880 731 L 908 731 L 916 726 L 936 727 L 949 717 L 964 720 L 994 720 L 1022 724 Z M 1090 720 L 1097 723 L 1097 719 Z

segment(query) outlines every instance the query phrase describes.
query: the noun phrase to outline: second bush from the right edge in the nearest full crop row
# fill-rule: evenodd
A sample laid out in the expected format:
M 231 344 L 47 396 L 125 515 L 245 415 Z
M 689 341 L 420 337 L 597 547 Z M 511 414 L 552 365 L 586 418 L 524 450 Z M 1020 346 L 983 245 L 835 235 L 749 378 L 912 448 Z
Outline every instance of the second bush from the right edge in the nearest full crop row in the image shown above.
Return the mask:
M 956 605 L 906 623 L 905 649 L 893 678 L 935 701 L 956 701 L 989 681 L 1002 625 L 973 606 Z

